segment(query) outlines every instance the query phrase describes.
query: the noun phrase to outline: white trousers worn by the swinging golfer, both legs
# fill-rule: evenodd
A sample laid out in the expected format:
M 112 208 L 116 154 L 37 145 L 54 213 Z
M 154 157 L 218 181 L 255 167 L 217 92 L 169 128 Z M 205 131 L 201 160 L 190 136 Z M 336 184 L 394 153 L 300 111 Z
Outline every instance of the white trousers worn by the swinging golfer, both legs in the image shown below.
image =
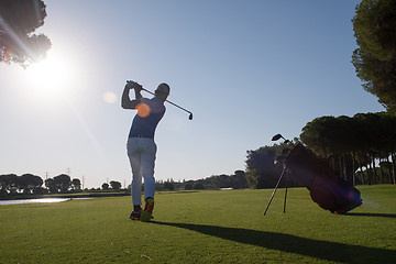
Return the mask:
M 132 205 L 142 205 L 142 176 L 144 178 L 144 198 L 154 198 L 154 163 L 156 144 L 147 138 L 130 138 L 127 143 L 128 156 L 132 168 Z

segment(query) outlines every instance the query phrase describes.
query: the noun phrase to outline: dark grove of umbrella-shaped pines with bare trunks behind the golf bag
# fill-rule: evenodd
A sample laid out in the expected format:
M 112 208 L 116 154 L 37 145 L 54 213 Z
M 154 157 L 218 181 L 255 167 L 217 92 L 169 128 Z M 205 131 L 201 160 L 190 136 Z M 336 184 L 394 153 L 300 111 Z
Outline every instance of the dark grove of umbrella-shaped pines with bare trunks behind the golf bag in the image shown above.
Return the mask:
M 318 155 L 332 157 L 333 169 L 340 177 L 355 183 L 355 172 L 361 169 L 361 184 L 384 182 L 384 169 L 376 169 L 376 160 L 389 160 L 396 151 L 396 116 L 358 113 L 349 117 L 321 117 L 302 128 L 301 141 Z M 362 167 L 366 166 L 363 174 Z M 394 164 L 387 167 L 394 182 Z M 378 174 L 380 173 L 380 174 Z M 389 176 L 388 176 L 389 178 Z

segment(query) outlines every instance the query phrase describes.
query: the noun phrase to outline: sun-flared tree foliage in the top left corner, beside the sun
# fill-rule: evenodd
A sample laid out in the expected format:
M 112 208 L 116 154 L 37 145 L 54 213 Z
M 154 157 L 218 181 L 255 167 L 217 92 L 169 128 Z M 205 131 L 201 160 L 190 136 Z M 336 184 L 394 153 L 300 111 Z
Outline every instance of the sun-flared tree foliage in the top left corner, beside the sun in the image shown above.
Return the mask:
M 41 0 L 0 1 L 0 62 L 26 67 L 46 56 L 50 38 L 33 34 L 44 24 L 45 8 Z

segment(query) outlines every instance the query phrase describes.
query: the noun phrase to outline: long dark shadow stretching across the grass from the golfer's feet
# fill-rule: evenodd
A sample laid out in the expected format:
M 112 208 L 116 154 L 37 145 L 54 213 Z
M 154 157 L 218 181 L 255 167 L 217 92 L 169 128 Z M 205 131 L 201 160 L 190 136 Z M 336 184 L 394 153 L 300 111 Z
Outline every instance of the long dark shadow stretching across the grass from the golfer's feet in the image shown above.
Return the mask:
M 394 250 L 342 244 L 285 233 L 194 223 L 158 221 L 152 221 L 152 223 L 187 229 L 238 243 L 312 256 L 324 261 L 341 263 L 393 263 L 396 260 L 396 251 Z

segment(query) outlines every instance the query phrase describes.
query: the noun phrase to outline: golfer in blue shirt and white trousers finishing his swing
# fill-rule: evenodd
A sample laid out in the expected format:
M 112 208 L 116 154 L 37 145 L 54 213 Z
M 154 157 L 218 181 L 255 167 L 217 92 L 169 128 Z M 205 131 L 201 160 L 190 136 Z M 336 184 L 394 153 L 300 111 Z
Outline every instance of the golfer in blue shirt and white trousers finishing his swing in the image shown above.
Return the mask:
M 129 97 L 134 89 L 135 99 Z M 164 102 L 169 95 L 167 84 L 158 85 L 152 99 L 143 98 L 143 87 L 134 81 L 128 81 L 122 92 L 121 107 L 138 110 L 133 119 L 127 143 L 128 156 L 132 167 L 132 220 L 150 221 L 154 209 L 154 164 L 156 144 L 154 142 L 155 129 L 165 114 Z M 145 206 L 142 210 L 142 176 L 144 178 Z

